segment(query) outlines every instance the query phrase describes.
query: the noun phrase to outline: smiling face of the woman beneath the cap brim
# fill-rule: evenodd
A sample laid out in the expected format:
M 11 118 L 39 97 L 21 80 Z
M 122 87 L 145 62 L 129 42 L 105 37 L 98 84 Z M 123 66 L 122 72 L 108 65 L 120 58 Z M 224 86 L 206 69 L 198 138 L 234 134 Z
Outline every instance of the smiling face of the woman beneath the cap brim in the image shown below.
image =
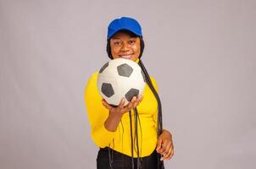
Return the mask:
M 132 37 L 127 32 L 118 32 L 110 39 L 111 54 L 114 58 L 126 58 L 136 61 L 141 53 L 139 37 Z

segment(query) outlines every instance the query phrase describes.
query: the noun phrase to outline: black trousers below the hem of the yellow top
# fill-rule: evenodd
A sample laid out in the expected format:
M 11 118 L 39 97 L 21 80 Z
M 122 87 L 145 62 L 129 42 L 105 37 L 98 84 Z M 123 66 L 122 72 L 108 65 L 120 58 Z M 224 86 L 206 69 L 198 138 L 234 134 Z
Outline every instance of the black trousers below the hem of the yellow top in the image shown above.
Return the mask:
M 111 166 L 109 164 L 112 161 Z M 158 154 L 154 150 L 149 156 L 141 158 L 142 169 L 157 169 L 158 166 Z M 134 168 L 137 168 L 137 158 L 133 158 Z M 100 149 L 97 153 L 97 169 L 131 169 L 132 159 L 131 156 L 121 154 L 115 150 L 109 148 Z

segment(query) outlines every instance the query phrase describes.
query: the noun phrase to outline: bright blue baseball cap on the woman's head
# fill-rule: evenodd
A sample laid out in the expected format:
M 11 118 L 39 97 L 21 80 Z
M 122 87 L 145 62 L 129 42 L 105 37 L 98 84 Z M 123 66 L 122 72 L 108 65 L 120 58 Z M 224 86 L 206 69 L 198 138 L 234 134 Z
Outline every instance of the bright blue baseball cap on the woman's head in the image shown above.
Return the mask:
M 114 19 L 109 24 L 107 40 L 120 30 L 129 30 L 135 35 L 142 36 L 142 27 L 136 19 L 122 17 L 120 19 Z

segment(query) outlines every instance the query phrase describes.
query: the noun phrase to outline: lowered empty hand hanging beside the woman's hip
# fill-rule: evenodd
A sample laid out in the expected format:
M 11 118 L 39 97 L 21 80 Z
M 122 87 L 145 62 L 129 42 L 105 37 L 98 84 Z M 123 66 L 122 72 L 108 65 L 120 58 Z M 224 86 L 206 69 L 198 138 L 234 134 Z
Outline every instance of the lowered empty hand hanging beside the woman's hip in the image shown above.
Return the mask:
M 159 140 L 156 148 L 157 152 L 162 155 L 161 161 L 170 160 L 174 155 L 174 146 L 172 143 L 172 135 L 168 130 L 163 129 L 159 135 Z

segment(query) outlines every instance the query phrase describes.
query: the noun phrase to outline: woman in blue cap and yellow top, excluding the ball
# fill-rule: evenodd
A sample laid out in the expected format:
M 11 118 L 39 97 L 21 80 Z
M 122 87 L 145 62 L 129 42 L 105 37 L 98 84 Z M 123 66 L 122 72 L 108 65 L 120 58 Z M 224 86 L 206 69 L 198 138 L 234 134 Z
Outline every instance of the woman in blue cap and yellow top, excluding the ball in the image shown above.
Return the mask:
M 144 41 L 136 19 L 114 19 L 108 27 L 109 58 L 123 57 L 139 64 L 147 85 L 142 95 L 126 106 L 110 106 L 97 91 L 97 74 L 86 85 L 86 109 L 92 127 L 92 139 L 100 148 L 97 169 L 164 168 L 164 160 L 174 154 L 172 136 L 162 128 L 162 110 L 158 87 L 142 64 Z M 143 99 L 142 99 L 143 98 Z

